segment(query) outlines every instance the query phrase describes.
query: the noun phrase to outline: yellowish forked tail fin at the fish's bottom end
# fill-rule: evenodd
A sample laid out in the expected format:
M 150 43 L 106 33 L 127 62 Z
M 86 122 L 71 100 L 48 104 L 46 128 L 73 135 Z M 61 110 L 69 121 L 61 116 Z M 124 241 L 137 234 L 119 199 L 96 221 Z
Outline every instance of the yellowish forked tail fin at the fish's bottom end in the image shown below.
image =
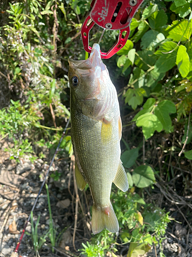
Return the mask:
M 94 234 L 101 232 L 104 228 L 115 233 L 119 231 L 117 217 L 110 203 L 106 207 L 97 207 L 93 205 L 92 209 L 92 231 Z

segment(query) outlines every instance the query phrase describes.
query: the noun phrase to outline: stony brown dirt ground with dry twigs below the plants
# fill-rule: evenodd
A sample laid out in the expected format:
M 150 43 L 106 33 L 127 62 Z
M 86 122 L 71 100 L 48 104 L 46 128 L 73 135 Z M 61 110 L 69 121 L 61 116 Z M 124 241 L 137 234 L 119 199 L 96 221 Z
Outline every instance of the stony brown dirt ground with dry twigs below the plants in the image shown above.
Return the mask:
M 4 152 L 7 143 L 5 140 L 0 142 L 0 256 L 10 256 L 14 251 L 19 237 L 23 231 L 25 223 L 29 217 L 30 211 L 37 197 L 41 183 L 49 168 L 49 163 L 41 159 L 34 163 L 29 161 L 28 156 L 22 158 L 20 163 L 9 159 L 9 153 Z M 63 156 L 56 159 L 52 171 L 62 171 L 62 177 L 59 181 L 49 178 L 48 183 L 53 224 L 57 234 L 62 232 L 59 237 L 59 246 L 55 248 L 54 253 L 50 250 L 50 244 L 46 243 L 42 246 L 40 256 L 77 256 L 76 249 L 82 248 L 81 243 L 85 243 L 91 237 L 91 223 L 89 211 L 78 213 L 77 229 L 73 242 L 74 225 L 75 225 L 75 198 L 73 186 L 73 166 L 71 159 Z M 156 193 L 155 193 L 156 191 Z M 79 192 L 79 198 L 83 206 L 83 210 L 88 210 L 86 204 L 92 204 L 91 198 L 84 198 L 85 195 Z M 166 257 L 190 257 L 192 256 L 192 231 L 190 224 L 186 224 L 186 217 L 182 217 L 177 209 L 177 204 L 171 204 L 165 198 L 163 188 L 155 187 L 154 198 L 161 198 L 173 221 L 168 224 L 166 235 L 160 245 L 153 246 L 151 251 L 144 256 L 163 257 L 160 255 L 160 247 Z M 86 199 L 86 200 L 83 200 Z M 182 210 L 183 205 L 179 205 Z M 33 212 L 34 223 L 40 215 L 38 225 L 38 235 L 43 235 L 49 229 L 49 210 L 47 202 L 47 193 L 45 187 L 42 189 L 40 197 L 37 201 L 36 208 Z M 177 223 L 174 221 L 179 221 Z M 20 244 L 18 253 L 20 256 L 34 256 L 31 223 L 26 227 L 26 234 Z M 119 247 L 117 256 L 125 257 L 129 244 Z M 109 254 L 110 256 L 110 254 Z

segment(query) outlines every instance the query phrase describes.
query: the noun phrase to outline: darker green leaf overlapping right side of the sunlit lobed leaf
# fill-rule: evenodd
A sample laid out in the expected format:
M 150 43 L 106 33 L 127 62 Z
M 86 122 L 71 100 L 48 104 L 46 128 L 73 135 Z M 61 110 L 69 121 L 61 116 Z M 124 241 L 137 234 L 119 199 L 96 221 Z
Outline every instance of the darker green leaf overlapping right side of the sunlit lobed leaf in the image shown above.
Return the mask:
M 175 104 L 169 100 L 163 100 L 154 109 L 154 114 L 158 117 L 163 125 L 163 129 L 167 132 L 170 132 L 172 126 L 169 113 L 176 113 Z

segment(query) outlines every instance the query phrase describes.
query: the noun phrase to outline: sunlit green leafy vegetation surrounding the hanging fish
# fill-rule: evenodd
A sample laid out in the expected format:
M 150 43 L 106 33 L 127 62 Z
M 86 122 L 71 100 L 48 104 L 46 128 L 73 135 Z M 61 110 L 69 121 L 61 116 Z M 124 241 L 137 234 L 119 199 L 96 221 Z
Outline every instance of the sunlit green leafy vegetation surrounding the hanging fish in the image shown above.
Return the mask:
M 171 190 L 172 197 L 191 193 L 191 173 L 186 172 L 192 160 L 191 8 L 191 0 L 144 1 L 126 45 L 104 61 L 118 91 L 121 159 L 130 190 L 114 188 L 111 195 L 119 235 L 102 231 L 82 244 L 81 256 L 118 256 L 125 244 L 127 256 L 137 257 L 161 245 L 170 217 L 165 204 L 149 200 L 154 189 L 163 189 L 165 197 Z M 11 159 L 19 162 L 28 154 L 32 161 L 50 160 L 53 155 L 70 117 L 68 58 L 85 58 L 80 27 L 89 10 L 88 0 L 0 4 L 0 142 L 8 139 L 5 151 Z M 98 42 L 101 32 L 94 26 L 90 44 Z M 106 31 L 101 49 L 107 51 L 117 36 L 117 31 Z M 58 156 L 72 156 L 70 132 L 60 148 Z M 60 175 L 51 174 L 55 180 Z M 35 227 L 32 223 L 36 252 L 48 240 L 53 251 L 57 246 L 48 203 L 49 231 L 38 237 L 39 218 Z M 191 218 L 187 208 L 182 211 Z

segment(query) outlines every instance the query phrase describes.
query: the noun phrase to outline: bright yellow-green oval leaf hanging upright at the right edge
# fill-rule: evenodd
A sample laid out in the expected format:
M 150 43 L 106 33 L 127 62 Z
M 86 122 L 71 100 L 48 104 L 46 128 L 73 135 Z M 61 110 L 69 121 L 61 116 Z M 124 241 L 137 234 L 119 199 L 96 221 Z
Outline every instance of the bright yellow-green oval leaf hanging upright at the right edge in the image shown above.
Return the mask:
M 187 54 L 187 49 L 185 46 L 180 45 L 178 52 L 177 52 L 177 59 L 176 59 L 176 64 L 179 69 L 179 72 L 183 78 L 186 78 L 189 72 L 189 57 Z

